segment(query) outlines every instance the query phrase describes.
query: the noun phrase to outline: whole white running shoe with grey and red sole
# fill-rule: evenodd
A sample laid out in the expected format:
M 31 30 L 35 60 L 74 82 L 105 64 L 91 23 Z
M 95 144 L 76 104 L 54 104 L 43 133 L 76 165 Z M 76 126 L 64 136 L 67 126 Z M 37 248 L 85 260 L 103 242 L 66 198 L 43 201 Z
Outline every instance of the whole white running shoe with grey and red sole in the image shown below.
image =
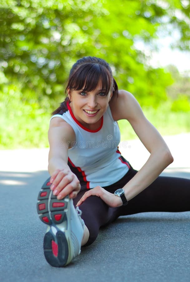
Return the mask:
M 84 221 L 73 200 L 69 196 L 57 200 L 50 186 L 48 178 L 38 194 L 37 213 L 47 225 L 43 244 L 45 258 L 52 266 L 63 267 L 80 254 Z

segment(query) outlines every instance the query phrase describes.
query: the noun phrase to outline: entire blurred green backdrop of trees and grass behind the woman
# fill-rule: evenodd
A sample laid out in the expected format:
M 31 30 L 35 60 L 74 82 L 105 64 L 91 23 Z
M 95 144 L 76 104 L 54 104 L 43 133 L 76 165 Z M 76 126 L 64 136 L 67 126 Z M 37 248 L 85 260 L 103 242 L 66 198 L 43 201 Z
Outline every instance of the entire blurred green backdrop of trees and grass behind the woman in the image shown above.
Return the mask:
M 158 39 L 174 31 L 171 48 L 188 52 L 187 0 L 2 1 L 0 149 L 48 146 L 50 115 L 64 100 L 69 70 L 87 55 L 108 61 L 119 89 L 134 94 L 162 134 L 190 132 L 186 60 L 184 72 L 151 64 Z M 127 121 L 119 125 L 122 140 L 135 138 Z

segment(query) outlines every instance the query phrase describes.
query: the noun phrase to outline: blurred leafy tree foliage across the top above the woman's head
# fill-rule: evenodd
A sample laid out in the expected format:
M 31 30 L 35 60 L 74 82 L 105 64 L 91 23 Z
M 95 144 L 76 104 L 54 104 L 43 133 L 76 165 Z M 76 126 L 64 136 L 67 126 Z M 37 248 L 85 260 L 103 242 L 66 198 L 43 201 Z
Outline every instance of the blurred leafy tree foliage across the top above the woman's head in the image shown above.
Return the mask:
M 161 69 L 147 70 L 147 55 L 135 50 L 134 42 L 151 42 L 166 18 L 189 40 L 183 32 L 188 24 L 181 19 L 189 11 L 184 5 L 177 0 L 118 0 L 117 7 L 113 0 L 3 1 L 0 70 L 8 80 L 21 82 L 23 96 L 30 89 L 35 99 L 45 95 L 55 100 L 64 91 L 71 65 L 81 56 L 95 55 L 113 66 L 120 88 L 129 88 L 143 104 L 147 96 L 148 104 L 151 99 L 157 104 L 166 98 L 171 79 Z M 183 16 L 177 18 L 179 8 Z M 158 86 L 155 81 L 165 82 Z

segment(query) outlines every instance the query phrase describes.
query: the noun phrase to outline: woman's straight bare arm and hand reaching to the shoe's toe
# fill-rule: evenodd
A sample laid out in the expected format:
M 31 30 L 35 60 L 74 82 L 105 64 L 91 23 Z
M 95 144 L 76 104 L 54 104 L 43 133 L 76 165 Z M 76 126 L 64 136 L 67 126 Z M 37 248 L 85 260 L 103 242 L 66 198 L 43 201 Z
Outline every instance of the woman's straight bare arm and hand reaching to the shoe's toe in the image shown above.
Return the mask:
M 71 126 L 61 118 L 53 118 L 48 131 L 50 144 L 48 171 L 51 175 L 51 190 L 58 199 L 70 195 L 76 197 L 80 191 L 80 182 L 67 165 L 68 148 L 75 141 Z

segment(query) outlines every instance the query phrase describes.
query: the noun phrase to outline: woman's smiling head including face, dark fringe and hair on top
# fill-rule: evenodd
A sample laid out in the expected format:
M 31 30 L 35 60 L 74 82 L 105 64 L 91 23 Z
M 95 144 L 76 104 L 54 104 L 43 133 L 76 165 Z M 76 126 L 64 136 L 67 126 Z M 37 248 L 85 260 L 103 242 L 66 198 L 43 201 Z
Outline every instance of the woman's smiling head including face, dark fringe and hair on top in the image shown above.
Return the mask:
M 75 118 L 86 128 L 99 128 L 112 97 L 112 89 L 111 69 L 98 63 L 80 65 L 70 75 L 66 87 Z

